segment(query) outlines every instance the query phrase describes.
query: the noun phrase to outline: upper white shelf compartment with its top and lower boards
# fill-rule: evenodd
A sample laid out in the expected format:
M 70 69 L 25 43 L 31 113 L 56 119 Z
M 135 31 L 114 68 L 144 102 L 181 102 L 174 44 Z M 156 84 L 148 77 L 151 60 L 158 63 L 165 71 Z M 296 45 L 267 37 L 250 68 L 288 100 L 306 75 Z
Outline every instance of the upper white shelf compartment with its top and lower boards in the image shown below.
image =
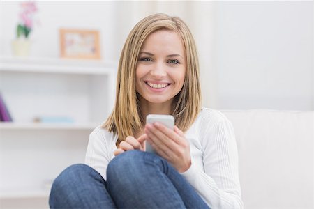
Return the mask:
M 0 56 L 0 91 L 16 122 L 58 114 L 75 123 L 100 123 L 114 104 L 116 69 L 114 61 Z M 0 128 L 75 130 L 81 125 Z

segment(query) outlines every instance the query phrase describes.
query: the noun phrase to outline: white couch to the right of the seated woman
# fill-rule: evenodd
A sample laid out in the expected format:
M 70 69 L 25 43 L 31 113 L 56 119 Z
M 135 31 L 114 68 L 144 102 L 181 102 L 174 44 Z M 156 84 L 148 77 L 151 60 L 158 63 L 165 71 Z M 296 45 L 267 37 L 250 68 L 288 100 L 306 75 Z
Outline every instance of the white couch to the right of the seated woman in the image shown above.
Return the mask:
M 313 208 L 313 111 L 221 111 L 237 137 L 244 208 Z

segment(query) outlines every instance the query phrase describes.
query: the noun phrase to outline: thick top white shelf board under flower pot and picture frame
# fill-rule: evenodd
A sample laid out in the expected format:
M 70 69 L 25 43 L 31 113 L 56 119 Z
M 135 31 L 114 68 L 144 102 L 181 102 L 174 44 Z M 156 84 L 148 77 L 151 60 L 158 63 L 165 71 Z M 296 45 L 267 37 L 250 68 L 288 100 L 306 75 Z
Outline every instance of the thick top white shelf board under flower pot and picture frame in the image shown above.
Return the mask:
M 40 72 L 84 75 L 112 75 L 117 63 L 113 61 L 93 61 L 51 58 L 0 57 L 2 72 Z

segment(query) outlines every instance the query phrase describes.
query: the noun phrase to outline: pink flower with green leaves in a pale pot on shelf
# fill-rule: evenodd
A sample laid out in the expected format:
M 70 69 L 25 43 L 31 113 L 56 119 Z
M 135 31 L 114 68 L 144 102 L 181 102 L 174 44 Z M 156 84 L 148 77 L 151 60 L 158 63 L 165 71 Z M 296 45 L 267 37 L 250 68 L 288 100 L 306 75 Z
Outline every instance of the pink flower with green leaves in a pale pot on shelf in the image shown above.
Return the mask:
M 31 52 L 31 40 L 29 35 L 33 30 L 33 15 L 38 11 L 36 3 L 33 1 L 23 1 L 20 3 L 22 12 L 20 22 L 17 24 L 16 39 L 12 41 L 11 47 L 15 56 L 29 56 Z

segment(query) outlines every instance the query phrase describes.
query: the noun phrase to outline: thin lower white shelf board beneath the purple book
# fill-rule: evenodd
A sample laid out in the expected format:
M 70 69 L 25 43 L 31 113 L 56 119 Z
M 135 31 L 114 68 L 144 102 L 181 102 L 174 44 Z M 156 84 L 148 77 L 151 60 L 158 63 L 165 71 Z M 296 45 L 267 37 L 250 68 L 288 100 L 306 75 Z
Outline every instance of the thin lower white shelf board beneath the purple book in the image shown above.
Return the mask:
M 0 122 L 0 130 L 94 130 L 96 123 L 15 123 Z

